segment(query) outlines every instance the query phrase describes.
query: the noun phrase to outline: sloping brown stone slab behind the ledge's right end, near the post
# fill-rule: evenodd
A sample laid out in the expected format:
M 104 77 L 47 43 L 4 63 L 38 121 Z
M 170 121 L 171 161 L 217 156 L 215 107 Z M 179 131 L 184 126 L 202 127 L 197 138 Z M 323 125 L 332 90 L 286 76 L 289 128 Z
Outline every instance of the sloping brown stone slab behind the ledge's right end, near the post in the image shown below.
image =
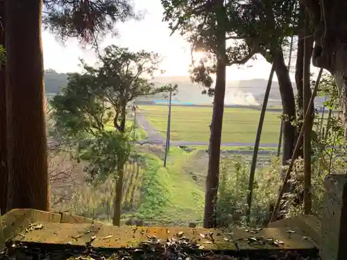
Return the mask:
M 321 221 L 312 215 L 298 215 L 269 223 L 269 227 L 297 228 L 298 234 L 307 236 L 316 245 L 321 244 Z

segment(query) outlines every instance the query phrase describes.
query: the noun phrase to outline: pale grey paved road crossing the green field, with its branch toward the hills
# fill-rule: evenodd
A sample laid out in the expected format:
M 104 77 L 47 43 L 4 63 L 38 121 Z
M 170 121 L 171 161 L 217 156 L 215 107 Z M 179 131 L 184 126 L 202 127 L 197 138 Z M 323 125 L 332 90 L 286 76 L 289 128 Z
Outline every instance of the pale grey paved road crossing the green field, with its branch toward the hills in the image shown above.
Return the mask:
M 155 128 L 155 126 L 149 122 L 144 114 L 137 110 L 136 123 L 142 125 L 142 128 L 147 132 L 148 138 L 146 140 L 139 141 L 140 144 L 157 144 L 164 145 L 165 138 Z M 173 146 L 208 146 L 208 141 L 170 141 Z M 254 146 L 253 143 L 222 143 L 221 146 Z M 261 144 L 260 147 L 277 147 L 277 144 Z

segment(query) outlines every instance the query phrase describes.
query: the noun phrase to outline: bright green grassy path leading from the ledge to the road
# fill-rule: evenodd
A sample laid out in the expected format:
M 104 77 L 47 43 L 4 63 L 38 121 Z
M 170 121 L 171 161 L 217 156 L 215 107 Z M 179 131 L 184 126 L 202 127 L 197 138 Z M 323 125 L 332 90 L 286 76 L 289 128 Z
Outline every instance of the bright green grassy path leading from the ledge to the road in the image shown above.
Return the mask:
M 183 163 L 188 158 L 189 153 L 172 148 L 167 168 L 164 168 L 158 157 L 146 155 L 139 216 L 160 225 L 201 223 L 204 192 L 192 175 L 183 172 Z

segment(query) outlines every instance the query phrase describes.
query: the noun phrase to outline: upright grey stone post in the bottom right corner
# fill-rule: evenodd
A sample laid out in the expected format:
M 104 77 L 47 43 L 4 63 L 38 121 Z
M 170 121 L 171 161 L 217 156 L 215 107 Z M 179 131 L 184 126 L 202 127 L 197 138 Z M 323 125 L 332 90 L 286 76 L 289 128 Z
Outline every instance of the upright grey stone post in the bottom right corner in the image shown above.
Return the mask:
M 325 189 L 319 253 L 322 260 L 344 260 L 347 256 L 347 175 L 328 175 Z

